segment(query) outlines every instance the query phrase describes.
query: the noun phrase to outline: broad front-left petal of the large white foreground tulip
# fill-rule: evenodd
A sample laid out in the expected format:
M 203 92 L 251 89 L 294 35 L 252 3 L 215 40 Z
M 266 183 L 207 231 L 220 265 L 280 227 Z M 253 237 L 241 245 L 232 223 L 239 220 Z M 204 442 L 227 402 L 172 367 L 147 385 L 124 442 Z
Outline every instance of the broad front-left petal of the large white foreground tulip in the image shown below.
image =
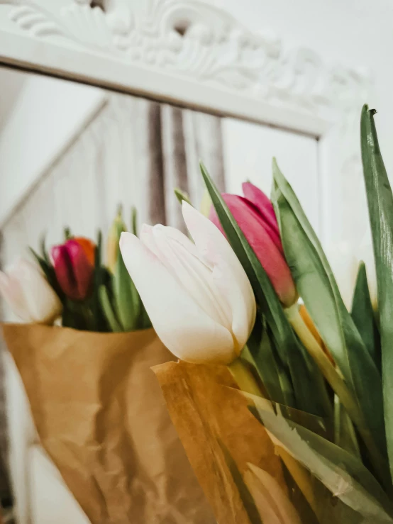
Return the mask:
M 184 291 L 158 257 L 135 235 L 122 233 L 124 263 L 162 342 L 188 362 L 228 364 L 237 356 L 231 333 Z

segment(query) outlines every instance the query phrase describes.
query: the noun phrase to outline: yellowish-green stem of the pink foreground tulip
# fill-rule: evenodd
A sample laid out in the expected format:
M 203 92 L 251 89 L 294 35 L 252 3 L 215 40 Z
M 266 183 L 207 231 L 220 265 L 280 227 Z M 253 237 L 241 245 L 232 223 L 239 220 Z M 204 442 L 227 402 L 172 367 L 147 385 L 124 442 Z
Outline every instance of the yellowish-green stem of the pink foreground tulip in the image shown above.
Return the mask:
M 292 328 L 294 328 L 299 339 L 301 342 L 303 342 L 304 347 L 306 347 L 306 350 L 309 352 L 311 357 L 314 358 L 314 361 L 316 362 L 319 369 L 321 369 L 323 377 L 325 377 L 325 379 L 331 385 L 331 388 L 336 393 L 338 398 L 340 398 L 340 401 L 351 420 L 358 427 L 362 440 L 365 442 L 367 450 L 370 454 L 370 459 L 372 459 L 372 464 L 375 467 L 375 471 L 380 476 L 382 481 L 385 480 L 384 484 L 388 483 L 387 485 L 389 485 L 387 475 L 385 474 L 386 467 L 384 466 L 384 459 L 375 445 L 370 430 L 367 428 L 367 424 L 358 401 L 354 398 L 347 384 L 345 384 L 345 381 L 338 372 L 338 369 L 333 366 L 322 347 L 314 338 L 314 335 L 312 335 L 306 323 L 304 323 L 304 320 L 301 318 L 299 313 L 299 307 L 297 304 L 294 304 L 294 306 L 291 306 L 284 311 L 287 314 L 287 318 L 291 323 Z

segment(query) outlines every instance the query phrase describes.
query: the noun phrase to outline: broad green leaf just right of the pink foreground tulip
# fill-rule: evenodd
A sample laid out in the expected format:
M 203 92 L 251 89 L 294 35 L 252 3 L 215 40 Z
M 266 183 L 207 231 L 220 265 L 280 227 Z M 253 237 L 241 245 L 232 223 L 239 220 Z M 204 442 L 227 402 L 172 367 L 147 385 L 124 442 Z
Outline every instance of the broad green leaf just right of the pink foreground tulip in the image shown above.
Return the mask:
M 292 277 L 316 328 L 358 401 L 376 444 L 373 448 L 381 455 L 378 460 L 381 465 L 386 457 L 386 440 L 380 373 L 345 308 L 321 244 L 275 160 L 273 177 L 272 199 Z M 383 467 L 386 469 L 385 464 Z M 390 482 L 389 473 L 385 471 L 384 483 L 389 485 Z

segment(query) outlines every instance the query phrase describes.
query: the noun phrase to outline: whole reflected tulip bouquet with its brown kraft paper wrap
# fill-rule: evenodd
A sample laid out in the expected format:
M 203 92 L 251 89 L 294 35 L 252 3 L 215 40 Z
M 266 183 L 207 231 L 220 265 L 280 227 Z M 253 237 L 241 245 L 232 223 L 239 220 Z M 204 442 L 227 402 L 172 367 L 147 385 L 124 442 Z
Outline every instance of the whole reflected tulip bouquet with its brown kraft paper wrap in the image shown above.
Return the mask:
M 136 235 L 135 211 L 132 223 Z M 120 255 L 125 230 L 119 210 L 105 264 L 101 233 L 65 230 L 50 255 L 42 243 L 35 262 L 0 272 L 23 320 L 4 324 L 6 345 L 40 444 L 92 524 L 213 523 L 150 370 L 172 355 Z

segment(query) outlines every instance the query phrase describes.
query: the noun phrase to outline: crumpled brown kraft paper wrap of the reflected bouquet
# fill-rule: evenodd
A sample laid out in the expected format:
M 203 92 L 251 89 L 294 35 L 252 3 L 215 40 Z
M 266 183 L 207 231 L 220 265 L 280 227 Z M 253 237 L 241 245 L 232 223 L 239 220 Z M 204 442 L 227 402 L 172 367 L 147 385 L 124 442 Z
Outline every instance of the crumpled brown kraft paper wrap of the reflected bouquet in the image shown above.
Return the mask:
M 93 524 L 213 524 L 150 367 L 153 330 L 4 325 L 40 441 Z M 61 511 L 61 508 L 59 508 Z

